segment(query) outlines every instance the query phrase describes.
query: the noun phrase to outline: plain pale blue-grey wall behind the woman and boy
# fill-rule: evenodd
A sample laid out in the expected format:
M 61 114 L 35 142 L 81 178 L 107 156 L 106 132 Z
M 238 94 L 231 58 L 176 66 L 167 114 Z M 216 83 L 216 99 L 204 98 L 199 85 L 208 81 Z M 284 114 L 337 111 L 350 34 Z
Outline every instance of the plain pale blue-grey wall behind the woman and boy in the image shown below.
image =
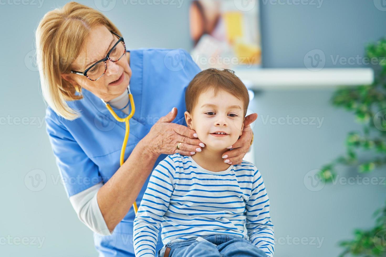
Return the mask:
M 97 2 L 81 1 L 94 8 Z M 371 0 L 325 0 L 319 8 L 318 2 L 288 4 L 293 2 L 261 2 L 264 67 L 304 67 L 303 58 L 313 49 L 326 55 L 326 67 L 361 66 L 334 65 L 329 56 L 363 57 L 364 44 L 385 35 L 386 12 Z M 39 123 L 45 110 L 39 74 L 29 62 L 37 23 L 44 13 L 65 1 L 44 1 L 41 6 L 32 0 L 17 3 L 10 0 L 0 6 L 0 252 L 2 256 L 97 256 L 91 231 L 76 217 L 58 181 L 45 125 Z M 120 28 L 130 48 L 190 50 L 188 6 L 188 1 L 178 8 L 124 5 L 117 0 L 105 14 Z M 254 124 L 256 166 L 271 200 L 276 256 L 338 255 L 337 242 L 352 238 L 354 227 L 372 226 L 371 214 L 385 198 L 382 185 L 337 183 L 312 191 L 304 183 L 309 171 L 344 153 L 348 131 L 360 129 L 352 115 L 330 105 L 331 94 L 331 90 L 265 91 L 256 94 L 250 106 L 259 114 Z M 313 117 L 324 119 L 320 128 L 269 120 L 287 116 L 305 117 L 309 122 Z M 24 125 L 19 124 L 23 118 Z M 44 188 L 36 192 L 24 181 L 35 169 L 47 176 Z M 348 168 L 341 171 L 346 178 L 357 175 Z M 369 176 L 381 178 L 384 174 L 377 171 Z M 25 243 L 17 241 L 23 237 Z M 41 247 L 36 238 L 44 240 Z M 323 240 L 321 246 L 318 240 Z

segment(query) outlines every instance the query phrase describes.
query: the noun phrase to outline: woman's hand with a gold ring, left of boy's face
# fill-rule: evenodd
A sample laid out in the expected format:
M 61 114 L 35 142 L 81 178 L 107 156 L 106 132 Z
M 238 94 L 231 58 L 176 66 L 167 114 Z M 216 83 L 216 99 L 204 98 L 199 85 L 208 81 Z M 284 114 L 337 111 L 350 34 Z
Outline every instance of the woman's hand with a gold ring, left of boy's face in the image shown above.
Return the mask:
M 166 116 L 161 117 L 144 137 L 148 142 L 148 151 L 154 156 L 161 154 L 173 155 L 194 155 L 201 152 L 205 144 L 197 138 L 196 131 L 186 126 L 171 123 L 177 115 L 177 108 L 173 108 Z M 177 144 L 179 149 L 176 148 Z

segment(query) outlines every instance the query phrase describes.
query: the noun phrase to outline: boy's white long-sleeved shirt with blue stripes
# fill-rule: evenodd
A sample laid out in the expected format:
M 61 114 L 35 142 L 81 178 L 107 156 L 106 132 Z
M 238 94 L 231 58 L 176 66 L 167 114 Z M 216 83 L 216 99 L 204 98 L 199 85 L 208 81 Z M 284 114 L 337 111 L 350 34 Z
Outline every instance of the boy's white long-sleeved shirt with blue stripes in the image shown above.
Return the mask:
M 239 235 L 273 257 L 269 198 L 259 170 L 248 161 L 214 172 L 191 156 L 168 155 L 152 171 L 134 219 L 135 256 L 157 255 L 160 225 L 164 245 Z

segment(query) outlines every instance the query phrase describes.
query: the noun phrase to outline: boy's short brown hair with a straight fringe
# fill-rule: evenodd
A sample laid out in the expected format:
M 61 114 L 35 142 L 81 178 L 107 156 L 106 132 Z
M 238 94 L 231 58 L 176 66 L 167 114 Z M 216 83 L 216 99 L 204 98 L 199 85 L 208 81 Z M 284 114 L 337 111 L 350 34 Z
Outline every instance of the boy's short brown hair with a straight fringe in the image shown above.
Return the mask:
M 192 113 L 197 104 L 198 97 L 204 91 L 213 88 L 216 95 L 219 90 L 225 90 L 244 102 L 244 118 L 249 104 L 249 93 L 244 83 L 229 69 L 210 68 L 199 72 L 190 81 L 185 91 L 186 111 Z M 243 108 L 243 106 L 240 106 Z

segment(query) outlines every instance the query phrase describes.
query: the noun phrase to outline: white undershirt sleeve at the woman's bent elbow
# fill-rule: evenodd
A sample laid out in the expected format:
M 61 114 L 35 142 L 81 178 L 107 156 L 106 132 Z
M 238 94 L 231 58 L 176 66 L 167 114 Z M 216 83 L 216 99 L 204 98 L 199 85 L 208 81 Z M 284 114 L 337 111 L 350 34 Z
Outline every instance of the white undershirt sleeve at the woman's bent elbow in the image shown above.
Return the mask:
M 97 201 L 97 193 L 102 186 L 102 182 L 98 183 L 71 196 L 69 200 L 81 222 L 85 223 L 93 232 L 100 235 L 111 235 L 112 232 L 107 228 Z

